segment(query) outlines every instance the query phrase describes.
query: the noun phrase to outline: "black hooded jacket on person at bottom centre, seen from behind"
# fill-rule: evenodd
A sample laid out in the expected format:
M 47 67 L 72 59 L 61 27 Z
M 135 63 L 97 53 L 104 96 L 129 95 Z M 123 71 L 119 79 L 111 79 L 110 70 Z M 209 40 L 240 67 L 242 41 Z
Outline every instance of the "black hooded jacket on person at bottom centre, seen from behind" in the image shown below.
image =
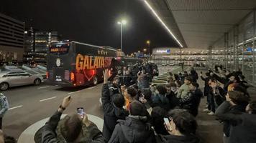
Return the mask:
M 109 143 L 152 143 L 155 134 L 147 123 L 147 117 L 131 116 L 119 120 Z

